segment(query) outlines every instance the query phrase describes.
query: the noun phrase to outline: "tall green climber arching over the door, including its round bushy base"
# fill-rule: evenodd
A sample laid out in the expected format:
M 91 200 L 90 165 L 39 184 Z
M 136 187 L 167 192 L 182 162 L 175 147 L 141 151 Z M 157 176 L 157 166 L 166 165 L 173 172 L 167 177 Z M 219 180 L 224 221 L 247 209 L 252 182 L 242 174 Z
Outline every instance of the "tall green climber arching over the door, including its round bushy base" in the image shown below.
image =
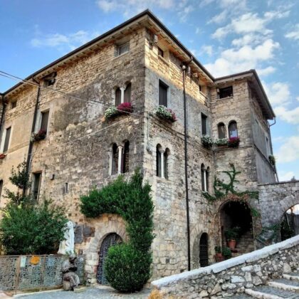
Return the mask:
M 104 265 L 110 285 L 123 292 L 140 290 L 151 276 L 154 205 L 150 184 L 142 185 L 142 179 L 140 170 L 136 170 L 129 182 L 119 176 L 102 189 L 92 189 L 80 198 L 80 209 L 85 216 L 118 214 L 127 223 L 130 240 L 111 246 Z

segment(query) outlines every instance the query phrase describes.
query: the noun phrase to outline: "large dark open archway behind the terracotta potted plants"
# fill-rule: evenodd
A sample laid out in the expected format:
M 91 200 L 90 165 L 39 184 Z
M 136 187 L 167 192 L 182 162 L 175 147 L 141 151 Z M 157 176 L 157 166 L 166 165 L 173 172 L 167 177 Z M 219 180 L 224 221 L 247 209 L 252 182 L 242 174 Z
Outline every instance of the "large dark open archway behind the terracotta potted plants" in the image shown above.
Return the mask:
M 253 223 L 251 209 L 248 204 L 240 201 L 226 201 L 220 208 L 222 247 L 226 247 L 225 232 L 239 228 L 239 238 L 236 244 L 236 253 L 253 251 Z

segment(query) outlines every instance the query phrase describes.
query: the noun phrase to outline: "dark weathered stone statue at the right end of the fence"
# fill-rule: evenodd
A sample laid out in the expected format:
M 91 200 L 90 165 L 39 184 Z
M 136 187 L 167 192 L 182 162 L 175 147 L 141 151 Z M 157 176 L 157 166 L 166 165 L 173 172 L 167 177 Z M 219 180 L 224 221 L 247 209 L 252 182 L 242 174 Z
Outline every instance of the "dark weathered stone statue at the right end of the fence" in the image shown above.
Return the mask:
M 63 290 L 74 290 L 80 283 L 79 276 L 74 272 L 77 270 L 76 258 L 75 254 L 71 254 L 68 260 L 63 262 Z

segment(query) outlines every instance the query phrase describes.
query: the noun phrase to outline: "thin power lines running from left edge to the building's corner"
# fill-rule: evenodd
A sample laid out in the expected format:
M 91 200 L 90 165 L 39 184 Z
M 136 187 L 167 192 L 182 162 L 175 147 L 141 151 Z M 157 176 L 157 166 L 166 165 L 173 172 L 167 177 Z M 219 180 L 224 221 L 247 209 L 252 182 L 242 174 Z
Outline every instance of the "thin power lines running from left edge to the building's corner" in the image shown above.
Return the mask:
M 78 97 L 76 97 L 75 95 L 71 95 L 71 94 L 69 94 L 69 93 L 65 93 L 65 92 L 63 92 L 63 91 L 61 91 L 61 90 L 57 90 L 57 89 L 55 89 L 55 88 L 49 88 L 49 87 L 47 87 L 47 86 L 41 86 L 41 85 L 38 85 L 37 83 L 31 82 L 31 81 L 29 81 L 29 80 L 26 80 L 26 79 L 23 79 L 23 78 L 19 78 L 19 77 L 17 77 L 16 75 L 11 75 L 10 73 L 6 73 L 6 72 L 4 72 L 3 70 L 0 70 L 0 75 L 1 75 L 2 77 L 6 77 L 6 78 L 9 78 L 9 79 L 11 79 L 11 80 L 18 80 L 18 81 L 20 81 L 20 82 L 22 82 L 22 83 L 24 83 L 24 84 L 32 85 L 32 86 L 35 86 L 35 87 L 37 87 L 37 88 L 42 88 L 42 89 L 46 89 L 46 90 L 51 90 L 51 91 L 53 91 L 53 92 L 55 92 L 55 93 L 60 93 L 61 95 L 64 95 L 64 96 L 66 96 L 66 97 L 73 98 L 73 99 L 75 99 L 75 100 L 80 100 L 80 101 L 83 101 L 83 102 L 85 102 L 85 103 L 91 102 L 91 103 L 95 103 L 95 104 L 103 105 L 104 107 L 110 107 L 110 106 L 111 106 L 111 105 L 107 105 L 106 103 L 103 103 L 103 102 L 98 101 L 98 100 L 85 100 L 85 99 L 83 99 L 83 98 L 78 98 Z M 117 107 L 116 107 L 116 108 L 117 108 Z M 143 115 L 140 115 L 140 114 L 135 113 L 135 112 L 127 112 L 127 111 L 123 111 L 123 110 L 119 110 L 119 109 L 117 109 L 117 110 L 120 111 L 120 112 L 124 112 L 124 113 L 126 113 L 126 114 L 132 114 L 132 115 L 137 115 L 137 116 L 139 116 L 139 117 L 140 117 L 140 116 L 143 117 Z

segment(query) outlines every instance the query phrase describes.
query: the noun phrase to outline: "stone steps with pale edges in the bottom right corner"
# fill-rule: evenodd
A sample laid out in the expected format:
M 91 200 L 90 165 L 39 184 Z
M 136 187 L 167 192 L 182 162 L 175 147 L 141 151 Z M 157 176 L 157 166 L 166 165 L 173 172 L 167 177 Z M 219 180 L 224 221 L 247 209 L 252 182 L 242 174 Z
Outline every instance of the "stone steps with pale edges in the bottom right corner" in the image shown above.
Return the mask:
M 235 299 L 298 299 L 299 298 L 299 268 L 293 273 L 283 274 L 283 278 L 271 280 L 267 285 L 248 288 L 245 294 L 234 296 Z

